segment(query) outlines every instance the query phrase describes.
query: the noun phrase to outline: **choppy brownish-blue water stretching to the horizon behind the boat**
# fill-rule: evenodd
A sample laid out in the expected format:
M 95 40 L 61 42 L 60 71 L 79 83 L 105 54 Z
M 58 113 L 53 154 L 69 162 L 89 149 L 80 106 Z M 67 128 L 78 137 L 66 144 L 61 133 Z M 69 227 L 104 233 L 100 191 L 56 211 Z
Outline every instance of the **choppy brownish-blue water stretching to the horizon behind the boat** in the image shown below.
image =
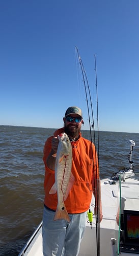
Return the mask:
M 42 220 L 43 146 L 55 129 L 0 126 L 0 255 L 18 255 Z M 88 131 L 82 136 L 89 138 Z M 129 167 L 128 140 L 135 141 L 132 160 L 139 171 L 139 134 L 99 132 L 100 178 Z

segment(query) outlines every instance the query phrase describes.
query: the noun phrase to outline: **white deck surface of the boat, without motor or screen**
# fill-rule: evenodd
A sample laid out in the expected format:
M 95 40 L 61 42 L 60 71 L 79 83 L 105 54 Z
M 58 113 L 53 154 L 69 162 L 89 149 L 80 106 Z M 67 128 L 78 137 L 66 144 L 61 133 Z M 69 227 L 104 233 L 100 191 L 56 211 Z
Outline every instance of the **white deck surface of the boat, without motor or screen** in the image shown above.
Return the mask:
M 139 181 L 136 178 L 126 179 L 121 182 L 122 198 L 124 199 L 125 209 L 139 210 Z M 112 184 L 112 180 L 101 180 L 101 198 L 102 198 L 102 211 L 103 220 L 100 223 L 100 256 L 115 256 L 113 252 L 111 239 L 115 238 L 118 243 L 118 230 L 119 226 L 116 223 L 116 215 L 119 206 L 119 182 Z M 94 204 L 94 198 L 92 198 Z M 94 212 L 94 207 L 91 206 Z M 88 221 L 88 218 L 87 218 Z M 116 249 L 115 249 L 116 250 Z M 115 251 L 114 250 L 114 251 Z M 42 256 L 42 236 L 41 228 L 37 233 L 35 241 L 26 250 L 24 255 L 27 256 Z M 96 225 L 95 217 L 93 217 L 92 229 L 90 224 L 86 223 L 86 230 L 84 238 L 81 241 L 79 256 L 96 256 Z M 120 256 L 136 256 L 139 254 L 134 253 L 121 253 Z

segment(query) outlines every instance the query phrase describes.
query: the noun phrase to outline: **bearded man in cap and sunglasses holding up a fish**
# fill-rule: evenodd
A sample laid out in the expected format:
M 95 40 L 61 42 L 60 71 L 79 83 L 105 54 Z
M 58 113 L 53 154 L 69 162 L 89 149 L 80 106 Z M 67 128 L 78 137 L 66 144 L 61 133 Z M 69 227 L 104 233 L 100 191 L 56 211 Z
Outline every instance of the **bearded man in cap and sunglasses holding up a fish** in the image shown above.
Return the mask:
M 96 185 L 99 184 L 97 153 L 94 144 L 81 136 L 81 124 L 84 124 L 81 109 L 70 106 L 66 110 L 63 121 L 64 127 L 55 131 L 44 145 L 45 199 L 42 226 L 44 256 L 78 255 L 93 191 L 97 197 L 96 201 L 99 202 L 99 217 L 100 221 L 102 220 L 101 196 L 99 189 L 96 189 Z M 65 200 L 70 222 L 64 219 L 53 221 L 58 199 L 57 193 L 49 194 L 54 183 L 55 158 L 53 155 L 57 153 L 59 143 L 57 136 L 63 132 L 68 135 L 72 145 L 71 172 L 74 183 Z

